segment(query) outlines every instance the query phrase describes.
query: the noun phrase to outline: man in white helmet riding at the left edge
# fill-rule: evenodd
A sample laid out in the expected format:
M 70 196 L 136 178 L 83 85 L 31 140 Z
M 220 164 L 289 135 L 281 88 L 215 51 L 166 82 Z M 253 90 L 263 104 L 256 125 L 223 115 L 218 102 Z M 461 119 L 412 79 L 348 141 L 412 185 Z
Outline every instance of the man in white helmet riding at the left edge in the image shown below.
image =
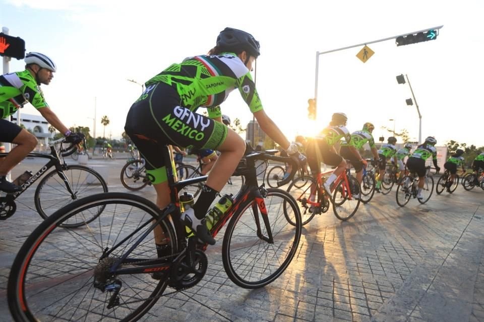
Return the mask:
M 71 133 L 45 102 L 40 85 L 49 85 L 55 71 L 55 63 L 48 56 L 29 52 L 25 56 L 25 70 L 0 75 L 0 141 L 17 144 L 0 165 L 0 191 L 21 190 L 6 175 L 37 146 L 33 134 L 6 120 L 25 104 L 32 104 L 47 122 L 64 133 L 67 142 L 79 143 L 84 139 L 82 133 Z

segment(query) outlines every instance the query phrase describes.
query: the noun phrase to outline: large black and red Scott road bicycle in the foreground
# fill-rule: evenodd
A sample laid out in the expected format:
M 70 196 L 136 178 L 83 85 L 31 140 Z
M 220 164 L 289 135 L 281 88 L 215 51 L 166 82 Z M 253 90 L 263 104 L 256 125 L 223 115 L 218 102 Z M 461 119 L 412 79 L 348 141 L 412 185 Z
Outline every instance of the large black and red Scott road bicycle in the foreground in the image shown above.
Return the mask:
M 171 164 L 168 147 L 161 153 L 165 164 Z M 249 289 L 284 272 L 301 234 L 294 199 L 281 189 L 258 185 L 258 159 L 290 162 L 267 151 L 247 155 L 236 172 L 246 177 L 245 185 L 210 230 L 215 236 L 228 222 L 223 267 L 236 285 Z M 12 266 L 7 297 L 14 320 L 136 321 L 145 314 L 146 320 L 157 320 L 148 311 L 160 297 L 200 282 L 208 267 L 207 245 L 187 232 L 178 194 L 207 177 L 175 182 L 171 167 L 167 176 L 171 203 L 164 209 L 133 194 L 104 193 L 77 200 L 43 221 Z M 58 229 L 73 216 L 99 208 L 104 209 L 101 215 L 85 226 Z M 166 256 L 157 256 L 154 229 L 168 243 Z

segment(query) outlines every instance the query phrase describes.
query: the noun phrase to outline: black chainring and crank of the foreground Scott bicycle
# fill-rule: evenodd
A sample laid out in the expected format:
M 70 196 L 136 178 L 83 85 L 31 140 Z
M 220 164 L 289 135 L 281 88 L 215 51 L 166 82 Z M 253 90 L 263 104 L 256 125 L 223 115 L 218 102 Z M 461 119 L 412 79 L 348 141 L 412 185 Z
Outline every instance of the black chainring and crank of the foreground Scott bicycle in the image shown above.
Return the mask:
M 202 280 L 207 272 L 207 255 L 201 250 L 195 250 L 193 254 L 193 265 L 187 264 L 187 253 L 180 256 L 171 265 L 170 281 L 168 285 L 176 290 L 195 286 Z

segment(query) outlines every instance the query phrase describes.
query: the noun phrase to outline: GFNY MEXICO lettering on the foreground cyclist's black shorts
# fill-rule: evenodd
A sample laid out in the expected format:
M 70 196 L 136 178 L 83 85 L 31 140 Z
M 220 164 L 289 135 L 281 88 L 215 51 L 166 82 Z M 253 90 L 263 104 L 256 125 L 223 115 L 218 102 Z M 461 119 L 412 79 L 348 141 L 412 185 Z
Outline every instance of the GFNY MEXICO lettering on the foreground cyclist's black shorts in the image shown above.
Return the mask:
M 173 117 L 170 113 L 163 118 L 163 121 L 173 130 L 197 141 L 201 141 L 205 137 L 203 130 L 210 125 L 210 120 L 180 106 L 173 109 L 173 114 Z

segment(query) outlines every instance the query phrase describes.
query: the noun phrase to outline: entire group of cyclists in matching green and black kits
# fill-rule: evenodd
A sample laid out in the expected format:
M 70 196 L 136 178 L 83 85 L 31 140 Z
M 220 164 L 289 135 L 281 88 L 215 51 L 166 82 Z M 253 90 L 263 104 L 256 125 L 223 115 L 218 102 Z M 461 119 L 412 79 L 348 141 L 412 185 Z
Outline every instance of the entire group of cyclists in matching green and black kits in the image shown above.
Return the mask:
M 215 46 L 206 55 L 195 55 L 173 63 L 149 79 L 145 83 L 146 90 L 127 112 L 125 131 L 145 159 L 148 177 L 156 190 L 158 207 L 164 208 L 170 202 L 166 175 L 166 166 L 170 165 L 164 163 L 160 148 L 172 145 L 204 151 L 203 163 L 206 166 L 202 172 L 208 173 L 208 179 L 200 197 L 193 207 L 183 213 L 183 218 L 205 243 L 215 243 L 205 224 L 205 214 L 246 150 L 246 142 L 227 126 L 230 120 L 220 110 L 220 104 L 234 89 L 238 90 L 261 129 L 299 165 L 307 161 L 313 175 L 321 172 L 321 162 L 336 167 L 324 183 L 327 193 L 330 193 L 331 184 L 337 176 L 345 170 L 345 159 L 351 162 L 356 179 L 361 183 L 362 169 L 367 166 L 367 161 L 359 150 L 367 142 L 381 174 L 391 159 L 403 171 L 402 160 L 406 156 L 407 168 L 417 173 L 420 179 L 425 176 L 425 162 L 429 157 L 432 157 L 435 168 L 440 169 L 437 166 L 435 137 L 427 137 L 413 152 L 408 143 L 397 150 L 397 140 L 393 136 L 377 149 L 372 135 L 375 126 L 367 122 L 361 130 L 350 133 L 344 113 L 334 113 L 329 125 L 318 136 L 290 142 L 266 114 L 252 79 L 251 71 L 260 54 L 260 44 L 250 33 L 227 27 L 219 33 Z M 6 175 L 37 145 L 34 135 L 5 119 L 24 104 L 30 102 L 37 108 L 53 127 L 64 133 L 67 142 L 78 144 L 84 139 L 82 133 L 72 133 L 45 102 L 40 85 L 48 85 L 56 71 L 52 59 L 30 52 L 25 57 L 25 63 L 25 70 L 0 76 L 0 141 L 17 144 L 0 164 L 0 190 L 5 192 L 20 189 L 9 182 Z M 197 114 L 199 107 L 206 108 L 208 116 Z M 224 122 L 227 119 L 228 123 Z M 343 142 L 338 153 L 335 145 L 341 139 Z M 306 154 L 300 152 L 302 145 L 305 145 Z M 220 154 L 217 155 L 215 150 Z M 462 150 L 457 150 L 445 164 L 452 174 L 462 165 L 462 153 Z M 484 156 L 476 160 L 476 166 L 482 167 L 483 159 Z M 377 190 L 380 185 L 381 179 Z M 421 185 L 423 180 L 419 181 L 418 198 L 422 197 Z M 166 239 L 161 230 L 156 232 L 155 239 L 162 253 Z

